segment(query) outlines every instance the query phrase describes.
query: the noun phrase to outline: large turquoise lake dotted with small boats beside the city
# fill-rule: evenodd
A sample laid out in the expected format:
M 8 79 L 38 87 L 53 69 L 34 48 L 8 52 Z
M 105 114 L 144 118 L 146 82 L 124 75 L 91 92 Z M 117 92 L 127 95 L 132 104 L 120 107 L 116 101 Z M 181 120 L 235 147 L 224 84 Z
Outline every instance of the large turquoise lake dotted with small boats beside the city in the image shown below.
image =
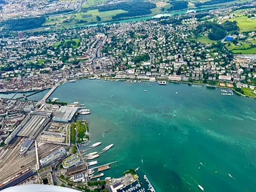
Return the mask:
M 118 161 L 104 178 L 140 167 L 160 192 L 200 191 L 197 185 L 255 191 L 254 99 L 223 96 L 206 86 L 103 80 L 66 82 L 53 97 L 91 110 L 81 118 L 89 122 L 91 143 L 102 141 L 94 151 L 114 143 L 97 159 L 98 165 Z

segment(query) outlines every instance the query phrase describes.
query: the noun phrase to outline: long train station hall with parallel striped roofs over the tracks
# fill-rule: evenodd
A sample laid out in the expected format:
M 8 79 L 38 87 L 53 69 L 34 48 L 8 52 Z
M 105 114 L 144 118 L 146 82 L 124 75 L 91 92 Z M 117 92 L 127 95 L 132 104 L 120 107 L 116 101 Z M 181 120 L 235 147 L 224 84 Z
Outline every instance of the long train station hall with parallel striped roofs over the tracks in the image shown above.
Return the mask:
M 35 139 L 49 122 L 49 120 L 51 120 L 51 112 L 30 112 L 29 117 L 22 124 L 22 128 L 17 135 L 20 137 L 30 137 Z

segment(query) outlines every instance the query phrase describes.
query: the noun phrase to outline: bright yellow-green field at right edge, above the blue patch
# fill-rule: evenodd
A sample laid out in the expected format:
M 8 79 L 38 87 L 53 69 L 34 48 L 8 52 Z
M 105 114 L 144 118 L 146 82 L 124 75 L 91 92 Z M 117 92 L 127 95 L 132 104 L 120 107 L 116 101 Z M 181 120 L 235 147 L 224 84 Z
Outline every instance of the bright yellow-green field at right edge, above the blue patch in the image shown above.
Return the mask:
M 238 27 L 240 28 L 240 32 L 256 30 L 256 19 L 255 18 L 247 18 L 246 16 L 240 16 L 237 18 L 232 18 L 230 21 L 236 21 Z

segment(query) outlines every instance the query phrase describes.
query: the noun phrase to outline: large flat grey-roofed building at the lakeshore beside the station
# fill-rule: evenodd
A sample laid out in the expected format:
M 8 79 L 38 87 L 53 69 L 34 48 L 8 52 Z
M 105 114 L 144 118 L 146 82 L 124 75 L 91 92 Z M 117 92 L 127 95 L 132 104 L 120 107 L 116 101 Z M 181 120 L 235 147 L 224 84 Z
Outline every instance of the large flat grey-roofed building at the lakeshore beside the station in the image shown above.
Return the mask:
M 53 120 L 56 122 L 70 122 L 78 109 L 78 107 L 62 106 L 54 116 Z

